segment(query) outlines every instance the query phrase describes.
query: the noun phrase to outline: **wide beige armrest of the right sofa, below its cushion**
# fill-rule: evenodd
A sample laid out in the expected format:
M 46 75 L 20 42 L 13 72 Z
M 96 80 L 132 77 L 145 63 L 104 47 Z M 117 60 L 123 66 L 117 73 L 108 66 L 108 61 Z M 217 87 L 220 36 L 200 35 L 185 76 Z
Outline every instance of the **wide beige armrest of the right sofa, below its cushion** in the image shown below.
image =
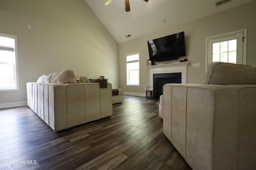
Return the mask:
M 164 134 L 193 169 L 236 169 L 238 104 L 232 86 L 165 84 Z

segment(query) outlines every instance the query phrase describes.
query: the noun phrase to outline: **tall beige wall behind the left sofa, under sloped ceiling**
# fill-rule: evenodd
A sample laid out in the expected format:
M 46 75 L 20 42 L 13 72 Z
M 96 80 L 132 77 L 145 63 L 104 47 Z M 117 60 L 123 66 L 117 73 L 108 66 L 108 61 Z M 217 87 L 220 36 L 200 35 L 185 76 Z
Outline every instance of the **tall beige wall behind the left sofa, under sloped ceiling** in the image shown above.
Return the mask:
M 64 69 L 118 86 L 118 43 L 84 0 L 0 0 L 0 32 L 18 37 L 20 81 L 0 92 L 2 106 L 26 102 L 26 82 Z

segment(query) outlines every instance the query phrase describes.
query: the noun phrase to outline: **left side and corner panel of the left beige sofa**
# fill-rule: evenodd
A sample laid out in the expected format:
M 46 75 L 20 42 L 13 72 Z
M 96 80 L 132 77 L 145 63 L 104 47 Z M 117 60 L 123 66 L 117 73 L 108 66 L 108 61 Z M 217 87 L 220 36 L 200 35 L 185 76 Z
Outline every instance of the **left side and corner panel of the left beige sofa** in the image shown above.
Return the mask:
M 28 106 L 54 131 L 67 129 L 64 84 L 28 82 Z

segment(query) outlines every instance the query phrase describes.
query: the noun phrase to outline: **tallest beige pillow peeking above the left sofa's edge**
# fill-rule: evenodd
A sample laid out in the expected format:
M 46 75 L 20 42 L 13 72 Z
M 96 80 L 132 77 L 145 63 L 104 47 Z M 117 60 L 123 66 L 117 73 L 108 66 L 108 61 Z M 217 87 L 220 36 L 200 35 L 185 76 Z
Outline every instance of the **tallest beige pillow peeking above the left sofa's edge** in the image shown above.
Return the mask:
M 51 81 L 56 84 L 76 83 L 76 76 L 73 70 L 64 70 L 60 73 L 54 72 Z

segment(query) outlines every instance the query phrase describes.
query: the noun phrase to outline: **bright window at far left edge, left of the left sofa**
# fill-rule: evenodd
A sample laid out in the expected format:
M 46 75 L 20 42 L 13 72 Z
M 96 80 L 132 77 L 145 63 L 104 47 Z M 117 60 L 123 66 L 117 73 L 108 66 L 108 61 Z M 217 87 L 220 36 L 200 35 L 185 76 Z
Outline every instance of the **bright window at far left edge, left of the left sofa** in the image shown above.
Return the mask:
M 0 91 L 19 90 L 17 36 L 0 33 Z

